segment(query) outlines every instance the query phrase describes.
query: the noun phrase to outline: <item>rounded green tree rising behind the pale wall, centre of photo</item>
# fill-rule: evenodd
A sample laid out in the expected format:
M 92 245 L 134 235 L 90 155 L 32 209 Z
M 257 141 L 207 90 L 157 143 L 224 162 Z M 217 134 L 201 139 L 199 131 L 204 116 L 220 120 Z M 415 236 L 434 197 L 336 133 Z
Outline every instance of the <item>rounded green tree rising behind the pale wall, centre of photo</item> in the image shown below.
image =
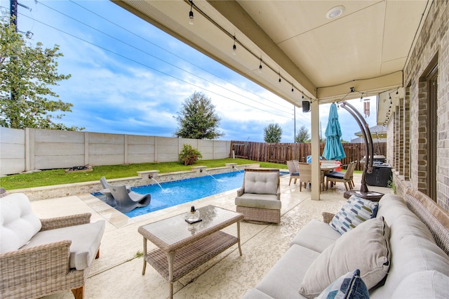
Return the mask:
M 204 93 L 195 91 L 182 103 L 177 112 L 179 124 L 176 137 L 192 139 L 215 139 L 224 133 L 217 131 L 220 117 L 215 114 L 215 106 Z

